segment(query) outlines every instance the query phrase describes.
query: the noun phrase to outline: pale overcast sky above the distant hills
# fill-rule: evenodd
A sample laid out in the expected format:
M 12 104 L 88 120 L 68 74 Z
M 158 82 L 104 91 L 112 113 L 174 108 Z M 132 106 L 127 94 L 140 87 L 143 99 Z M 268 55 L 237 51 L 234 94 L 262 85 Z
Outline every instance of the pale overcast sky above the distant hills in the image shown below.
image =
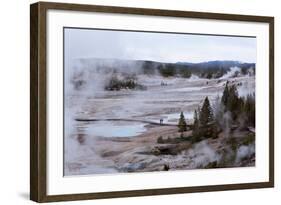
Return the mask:
M 65 57 L 255 63 L 256 38 L 66 28 Z

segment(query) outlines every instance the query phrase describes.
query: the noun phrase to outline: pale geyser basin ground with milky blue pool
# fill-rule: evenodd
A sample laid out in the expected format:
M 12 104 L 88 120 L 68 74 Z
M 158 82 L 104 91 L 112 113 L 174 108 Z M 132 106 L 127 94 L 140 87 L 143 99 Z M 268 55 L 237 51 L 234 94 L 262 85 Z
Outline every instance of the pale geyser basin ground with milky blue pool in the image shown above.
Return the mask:
M 202 105 L 202 100 L 206 96 L 209 97 L 211 103 L 214 103 L 216 97 L 222 94 L 227 80 L 236 84 L 242 83 L 238 87 L 240 95 L 246 96 L 247 93 L 255 91 L 254 76 L 221 80 L 166 79 L 147 76 L 141 76 L 139 79 L 141 84 L 147 86 L 147 90 L 100 90 L 98 95 L 93 90 L 74 93 L 71 97 L 66 96 L 65 111 L 71 112 L 74 118 L 123 118 L 156 123 L 163 118 L 164 123 L 176 125 L 180 111 L 184 112 L 189 123 L 193 120 L 194 109 Z M 167 82 L 168 85 L 161 86 L 161 81 Z M 197 162 L 201 159 L 207 163 L 212 161 L 209 156 L 217 158 L 213 150 L 220 149 L 222 143 L 221 136 L 195 147 L 192 149 L 193 153 L 190 150 L 190 152 L 179 152 L 177 155 L 155 156 L 151 154 L 151 151 L 155 146 L 159 146 L 157 143 L 159 136 L 165 139 L 180 137 L 176 126 L 156 126 L 139 122 L 74 122 L 66 127 L 74 128 L 68 130 L 68 135 L 65 136 L 65 173 L 68 176 L 157 171 L 163 170 L 163 165 L 167 163 L 170 170 L 194 169 L 200 165 Z M 79 134 L 85 137 L 82 144 L 77 140 Z M 186 136 L 189 134 L 190 131 L 185 133 Z M 69 141 L 73 141 L 75 146 L 69 146 Z M 188 150 L 189 146 L 188 143 L 183 143 L 180 145 L 180 150 Z M 67 157 L 69 154 L 74 156 Z

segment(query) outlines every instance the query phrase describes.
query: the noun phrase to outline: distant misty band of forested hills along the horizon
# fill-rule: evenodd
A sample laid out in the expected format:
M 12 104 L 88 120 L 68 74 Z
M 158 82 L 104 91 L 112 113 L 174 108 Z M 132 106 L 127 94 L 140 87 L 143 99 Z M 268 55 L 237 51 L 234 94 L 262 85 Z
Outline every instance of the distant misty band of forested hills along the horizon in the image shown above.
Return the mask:
M 121 89 L 145 90 L 145 86 L 138 82 L 138 75 L 160 75 L 164 78 L 199 78 L 219 79 L 225 74 L 230 77 L 255 75 L 254 63 L 238 61 L 209 61 L 202 63 L 164 63 L 146 60 L 121 59 L 79 59 L 78 67 L 73 68 L 70 83 L 75 90 L 81 90 L 91 84 L 92 75 L 106 77 L 104 90 L 118 91 Z M 76 66 L 77 66 L 76 65 Z M 83 68 L 83 69 L 81 69 Z M 235 72 L 232 72 L 236 68 Z

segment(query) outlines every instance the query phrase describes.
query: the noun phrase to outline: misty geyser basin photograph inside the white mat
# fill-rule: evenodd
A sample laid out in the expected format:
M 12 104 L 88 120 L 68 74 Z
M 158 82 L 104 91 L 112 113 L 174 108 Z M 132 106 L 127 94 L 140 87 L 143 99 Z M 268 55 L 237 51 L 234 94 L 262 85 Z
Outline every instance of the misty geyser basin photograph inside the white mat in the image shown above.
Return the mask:
M 256 36 L 63 28 L 64 176 L 255 167 Z

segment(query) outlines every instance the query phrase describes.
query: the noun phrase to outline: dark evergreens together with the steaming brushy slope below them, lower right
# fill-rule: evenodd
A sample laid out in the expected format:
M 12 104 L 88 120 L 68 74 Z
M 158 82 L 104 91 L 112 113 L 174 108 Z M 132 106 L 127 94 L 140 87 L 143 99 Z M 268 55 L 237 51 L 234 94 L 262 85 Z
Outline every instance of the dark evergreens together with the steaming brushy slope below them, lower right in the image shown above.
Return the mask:
M 226 168 L 255 164 L 255 93 L 240 96 L 239 83 L 225 81 L 221 95 L 210 101 L 206 96 L 194 110 L 193 124 L 187 124 L 183 112 L 176 135 L 161 135 L 154 155 L 190 154 L 198 151 L 196 168 Z M 188 129 L 187 129 L 188 128 Z M 190 152 L 189 152 L 190 151 Z M 198 154 L 198 155 L 197 155 Z M 211 156 L 209 156 L 211 155 Z M 207 156 L 209 158 L 207 158 Z M 206 160 L 202 163 L 202 160 Z M 194 161 L 193 161 L 194 162 Z

